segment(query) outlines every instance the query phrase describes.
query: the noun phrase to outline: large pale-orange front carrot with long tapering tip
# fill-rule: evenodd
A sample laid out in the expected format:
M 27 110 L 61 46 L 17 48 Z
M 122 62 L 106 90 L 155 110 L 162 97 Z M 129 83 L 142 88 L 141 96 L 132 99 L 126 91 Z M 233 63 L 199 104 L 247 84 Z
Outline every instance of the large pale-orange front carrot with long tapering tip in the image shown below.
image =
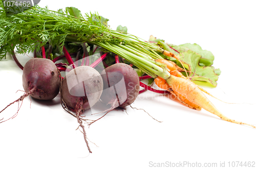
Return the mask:
M 227 118 L 215 107 L 214 104 L 210 102 L 210 100 L 203 94 L 203 92 L 198 88 L 198 86 L 192 81 L 181 78 L 181 77 L 176 77 L 174 75 L 170 75 L 170 77 L 166 79 L 166 82 L 169 85 L 169 87 L 172 88 L 173 91 L 175 91 L 175 93 L 179 93 L 191 103 L 194 103 L 202 107 L 203 109 L 211 112 L 212 114 L 217 115 L 222 120 L 236 123 L 236 124 L 248 125 L 253 128 L 256 128 L 253 125 Z

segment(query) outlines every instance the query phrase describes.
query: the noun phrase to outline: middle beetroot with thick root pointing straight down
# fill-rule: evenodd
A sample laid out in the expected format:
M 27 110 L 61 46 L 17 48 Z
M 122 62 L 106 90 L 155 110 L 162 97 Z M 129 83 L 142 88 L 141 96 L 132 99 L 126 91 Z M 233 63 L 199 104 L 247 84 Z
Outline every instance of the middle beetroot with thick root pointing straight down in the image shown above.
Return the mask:
M 92 153 L 86 136 L 86 130 L 81 121 L 83 110 L 92 107 L 100 98 L 103 90 L 103 80 L 92 67 L 79 66 L 72 69 L 64 77 L 61 86 L 61 100 L 63 104 L 75 112 L 75 117 L 82 128 L 87 148 Z

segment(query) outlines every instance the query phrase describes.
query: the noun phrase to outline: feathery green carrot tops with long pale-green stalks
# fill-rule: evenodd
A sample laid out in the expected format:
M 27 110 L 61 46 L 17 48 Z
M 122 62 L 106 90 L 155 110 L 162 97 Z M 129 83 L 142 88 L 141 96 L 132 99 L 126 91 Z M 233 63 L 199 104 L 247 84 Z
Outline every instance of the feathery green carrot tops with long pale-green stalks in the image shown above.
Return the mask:
M 126 27 L 119 26 L 117 31 L 112 30 L 107 22 L 108 19 L 98 13 L 86 13 L 82 16 L 73 7 L 66 8 L 65 11 L 51 11 L 36 6 L 8 17 L 2 10 L 0 60 L 5 58 L 7 52 L 14 51 L 14 48 L 23 54 L 39 51 L 42 46 L 49 44 L 58 53 L 62 53 L 63 46 L 86 42 L 119 55 L 153 78 L 160 76 L 167 79 L 170 76 L 166 65 L 155 62 L 156 59 L 166 59 L 162 53 L 170 50 L 169 47 L 165 49 L 163 44 L 150 43 L 127 34 Z

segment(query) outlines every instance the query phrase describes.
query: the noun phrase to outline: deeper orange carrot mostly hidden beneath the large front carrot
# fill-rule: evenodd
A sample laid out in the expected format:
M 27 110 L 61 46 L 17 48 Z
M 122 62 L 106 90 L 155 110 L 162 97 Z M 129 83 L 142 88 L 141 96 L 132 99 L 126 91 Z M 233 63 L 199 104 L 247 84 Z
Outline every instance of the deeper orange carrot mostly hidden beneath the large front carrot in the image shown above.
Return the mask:
M 156 77 L 154 79 L 156 85 L 163 89 L 166 90 L 170 93 L 172 93 L 176 98 L 178 98 L 183 104 L 185 104 L 186 106 L 188 106 L 189 108 L 193 108 L 193 109 L 197 109 L 197 110 L 201 110 L 202 108 L 194 103 L 191 103 L 190 101 L 188 101 L 185 97 L 183 97 L 181 94 L 173 91 L 169 85 L 167 84 L 167 82 L 162 78 L 162 77 Z

